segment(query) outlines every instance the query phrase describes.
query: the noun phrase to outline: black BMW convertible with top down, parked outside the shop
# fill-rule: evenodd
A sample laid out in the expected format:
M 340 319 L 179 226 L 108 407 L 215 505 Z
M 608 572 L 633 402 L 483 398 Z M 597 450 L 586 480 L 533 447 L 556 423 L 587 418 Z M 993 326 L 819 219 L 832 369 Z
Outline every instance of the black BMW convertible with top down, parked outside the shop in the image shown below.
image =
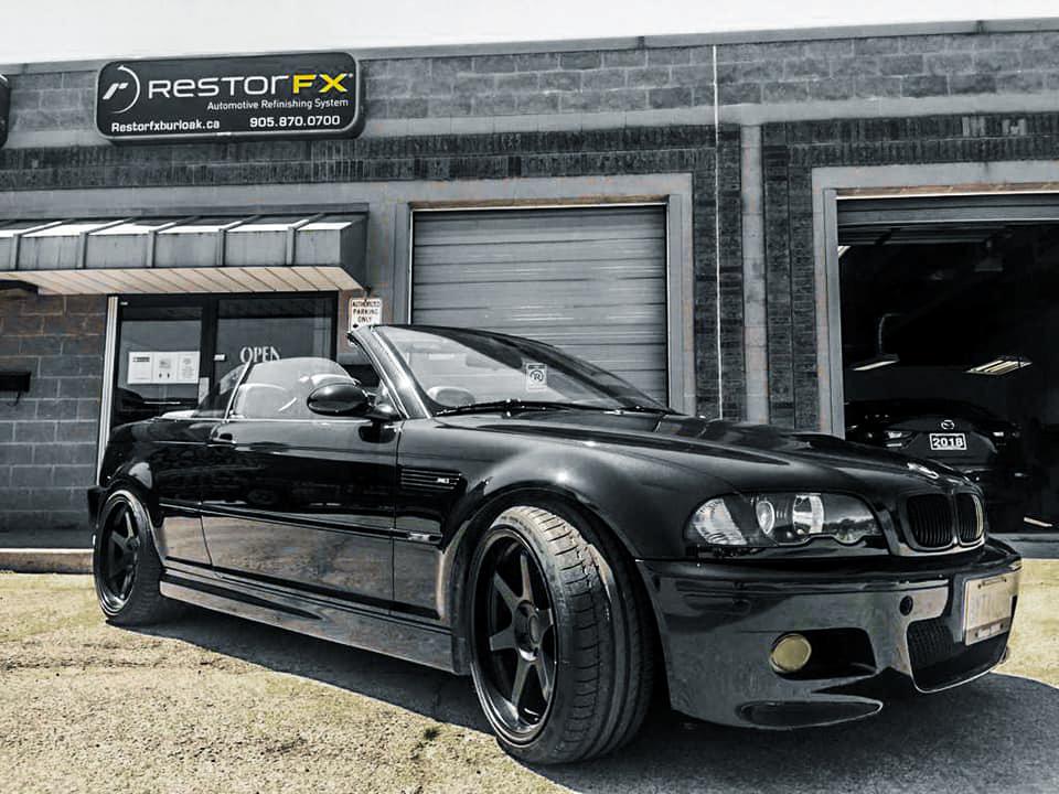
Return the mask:
M 115 430 L 89 492 L 108 620 L 190 603 L 470 674 L 532 762 L 620 747 L 656 687 L 800 728 L 1004 658 L 1020 560 L 943 464 L 675 415 L 513 336 L 350 343 Z

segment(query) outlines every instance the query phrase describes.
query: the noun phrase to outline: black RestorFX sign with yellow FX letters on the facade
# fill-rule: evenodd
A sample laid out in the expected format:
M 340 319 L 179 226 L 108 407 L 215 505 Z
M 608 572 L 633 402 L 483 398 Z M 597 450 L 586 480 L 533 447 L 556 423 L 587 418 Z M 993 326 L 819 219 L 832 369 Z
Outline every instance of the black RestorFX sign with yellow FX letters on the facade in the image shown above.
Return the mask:
M 115 61 L 96 127 L 114 141 L 355 136 L 361 85 L 349 53 Z

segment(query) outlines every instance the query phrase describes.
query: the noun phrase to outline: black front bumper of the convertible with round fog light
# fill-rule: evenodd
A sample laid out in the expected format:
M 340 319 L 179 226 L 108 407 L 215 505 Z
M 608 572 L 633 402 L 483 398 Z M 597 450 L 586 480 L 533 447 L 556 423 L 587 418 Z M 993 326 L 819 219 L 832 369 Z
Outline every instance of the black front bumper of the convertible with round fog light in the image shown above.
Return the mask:
M 725 725 L 800 728 L 878 712 L 887 697 L 938 691 L 1003 661 L 1008 632 L 964 645 L 964 582 L 1021 568 L 996 540 L 959 561 L 887 558 L 826 571 L 738 561 L 639 561 L 665 654 L 670 700 Z M 782 635 L 813 642 L 799 674 L 774 672 Z M 815 651 L 819 648 L 819 653 Z

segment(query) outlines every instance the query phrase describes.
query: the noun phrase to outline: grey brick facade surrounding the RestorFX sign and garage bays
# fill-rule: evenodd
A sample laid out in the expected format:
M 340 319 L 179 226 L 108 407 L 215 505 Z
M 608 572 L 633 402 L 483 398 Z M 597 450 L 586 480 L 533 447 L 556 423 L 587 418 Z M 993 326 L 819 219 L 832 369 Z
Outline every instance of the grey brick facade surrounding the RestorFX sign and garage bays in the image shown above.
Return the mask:
M 689 174 L 687 344 L 698 410 L 745 416 L 752 360 L 767 369 L 768 418 L 817 429 L 814 169 L 1059 153 L 1059 30 L 641 41 L 363 63 L 367 126 L 356 140 L 124 148 L 94 130 L 92 65 L 9 69 L 0 198 L 13 207 L 25 191 L 197 186 L 207 195 L 222 185 Z M 753 184 L 744 182 L 747 162 Z M 744 250 L 748 213 L 757 253 Z M 748 302 L 759 318 L 752 358 Z M 101 311 L 101 301 L 78 298 L 0 301 L 0 368 L 34 375 L 29 399 L 0 405 L 0 528 L 83 515 Z

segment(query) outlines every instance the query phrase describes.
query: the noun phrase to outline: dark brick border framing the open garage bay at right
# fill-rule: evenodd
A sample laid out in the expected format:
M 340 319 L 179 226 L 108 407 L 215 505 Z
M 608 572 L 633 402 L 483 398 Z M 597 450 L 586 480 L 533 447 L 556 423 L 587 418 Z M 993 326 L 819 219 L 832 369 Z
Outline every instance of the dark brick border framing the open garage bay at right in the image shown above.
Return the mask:
M 775 124 L 762 144 L 771 417 L 817 429 L 812 170 L 1056 159 L 1059 114 Z

